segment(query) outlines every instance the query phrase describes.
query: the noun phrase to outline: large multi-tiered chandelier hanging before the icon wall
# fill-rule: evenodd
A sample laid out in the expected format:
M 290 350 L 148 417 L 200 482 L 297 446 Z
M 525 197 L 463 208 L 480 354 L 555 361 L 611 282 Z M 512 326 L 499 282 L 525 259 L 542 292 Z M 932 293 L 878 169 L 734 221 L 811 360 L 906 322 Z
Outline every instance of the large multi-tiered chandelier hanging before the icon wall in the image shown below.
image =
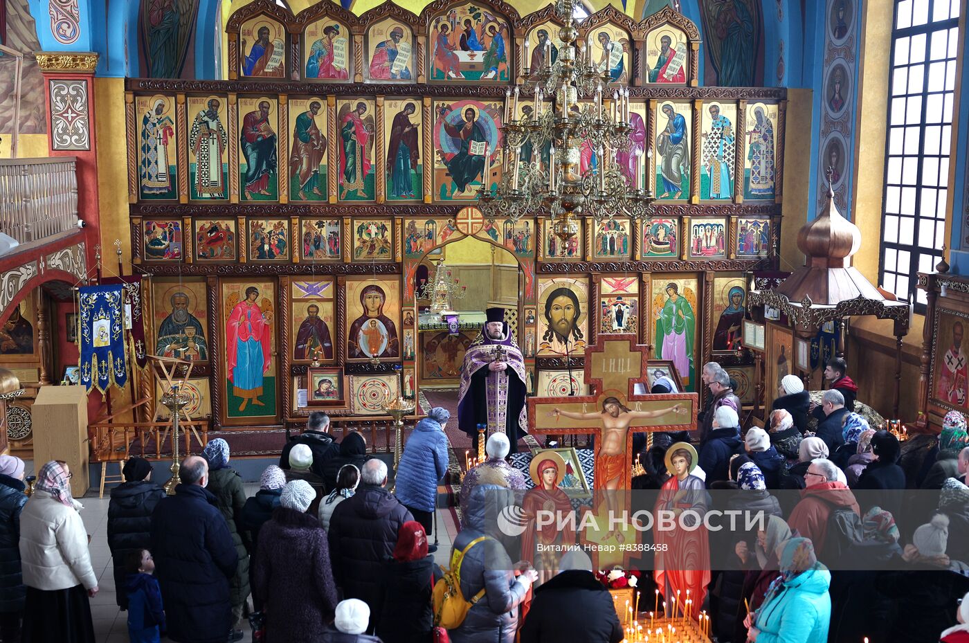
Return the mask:
M 615 216 L 648 220 L 655 200 L 652 192 L 640 188 L 639 163 L 632 175 L 620 168 L 618 155 L 631 150 L 629 89 L 610 91 L 611 65 L 592 61 L 591 34 L 588 46 L 578 41 L 575 3 L 559 0 L 555 6 L 566 23 L 559 30 L 562 44 L 557 60 L 552 63 L 547 40 L 543 67 L 524 70 L 524 77 L 534 78 L 530 105 L 518 87 L 505 92 L 502 178 L 495 190 L 485 180 L 478 195 L 485 219 L 517 221 L 550 214 L 551 230 L 561 240 L 563 254 L 569 240 L 578 235 L 581 215 L 597 222 Z M 526 41 L 526 64 L 528 46 Z M 539 160 L 522 158 L 526 143 Z M 647 158 L 652 155 L 648 148 L 639 151 Z M 582 168 L 583 156 L 590 159 L 586 168 Z

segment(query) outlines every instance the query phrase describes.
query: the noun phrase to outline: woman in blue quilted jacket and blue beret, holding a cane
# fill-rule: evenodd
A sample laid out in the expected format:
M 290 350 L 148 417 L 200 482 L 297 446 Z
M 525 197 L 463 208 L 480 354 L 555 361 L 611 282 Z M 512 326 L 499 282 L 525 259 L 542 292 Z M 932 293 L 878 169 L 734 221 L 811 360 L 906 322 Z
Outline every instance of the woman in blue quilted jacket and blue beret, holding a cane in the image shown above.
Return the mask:
M 451 413 L 434 407 L 408 438 L 394 481 L 397 500 L 406 506 L 430 535 L 434 527 L 437 481 L 448 471 L 448 437 L 444 427 Z M 431 545 L 431 552 L 436 547 Z

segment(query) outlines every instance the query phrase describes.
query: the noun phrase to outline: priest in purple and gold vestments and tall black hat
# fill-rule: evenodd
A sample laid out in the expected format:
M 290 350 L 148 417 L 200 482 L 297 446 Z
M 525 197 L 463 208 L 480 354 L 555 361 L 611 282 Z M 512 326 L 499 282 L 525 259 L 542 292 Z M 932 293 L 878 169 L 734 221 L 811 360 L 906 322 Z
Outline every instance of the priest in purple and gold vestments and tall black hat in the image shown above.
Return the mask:
M 504 322 L 503 308 L 485 311 L 485 329 L 464 353 L 461 388 L 457 394 L 457 425 L 478 439 L 478 425 L 487 434 L 504 433 L 517 452 L 518 438 L 525 435 L 525 363 L 521 350 Z

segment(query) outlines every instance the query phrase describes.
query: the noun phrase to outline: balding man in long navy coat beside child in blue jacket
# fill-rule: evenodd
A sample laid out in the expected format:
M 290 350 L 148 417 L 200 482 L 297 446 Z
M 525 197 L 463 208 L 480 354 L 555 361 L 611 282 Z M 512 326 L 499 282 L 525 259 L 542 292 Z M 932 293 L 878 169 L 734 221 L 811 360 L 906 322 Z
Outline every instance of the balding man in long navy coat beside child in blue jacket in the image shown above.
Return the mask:
M 181 484 L 151 515 L 151 554 L 162 588 L 169 638 L 178 643 L 225 643 L 232 626 L 229 579 L 238 555 L 215 497 L 205 489 L 208 463 L 181 463 Z

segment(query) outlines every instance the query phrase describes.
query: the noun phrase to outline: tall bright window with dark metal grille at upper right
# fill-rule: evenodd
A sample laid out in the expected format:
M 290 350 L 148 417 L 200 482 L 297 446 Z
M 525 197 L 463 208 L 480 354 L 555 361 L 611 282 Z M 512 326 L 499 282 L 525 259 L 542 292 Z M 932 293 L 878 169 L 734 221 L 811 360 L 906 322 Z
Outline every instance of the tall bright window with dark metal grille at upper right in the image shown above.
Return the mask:
M 925 310 L 917 273 L 946 243 L 953 90 L 962 0 L 896 0 L 891 32 L 882 287 Z

